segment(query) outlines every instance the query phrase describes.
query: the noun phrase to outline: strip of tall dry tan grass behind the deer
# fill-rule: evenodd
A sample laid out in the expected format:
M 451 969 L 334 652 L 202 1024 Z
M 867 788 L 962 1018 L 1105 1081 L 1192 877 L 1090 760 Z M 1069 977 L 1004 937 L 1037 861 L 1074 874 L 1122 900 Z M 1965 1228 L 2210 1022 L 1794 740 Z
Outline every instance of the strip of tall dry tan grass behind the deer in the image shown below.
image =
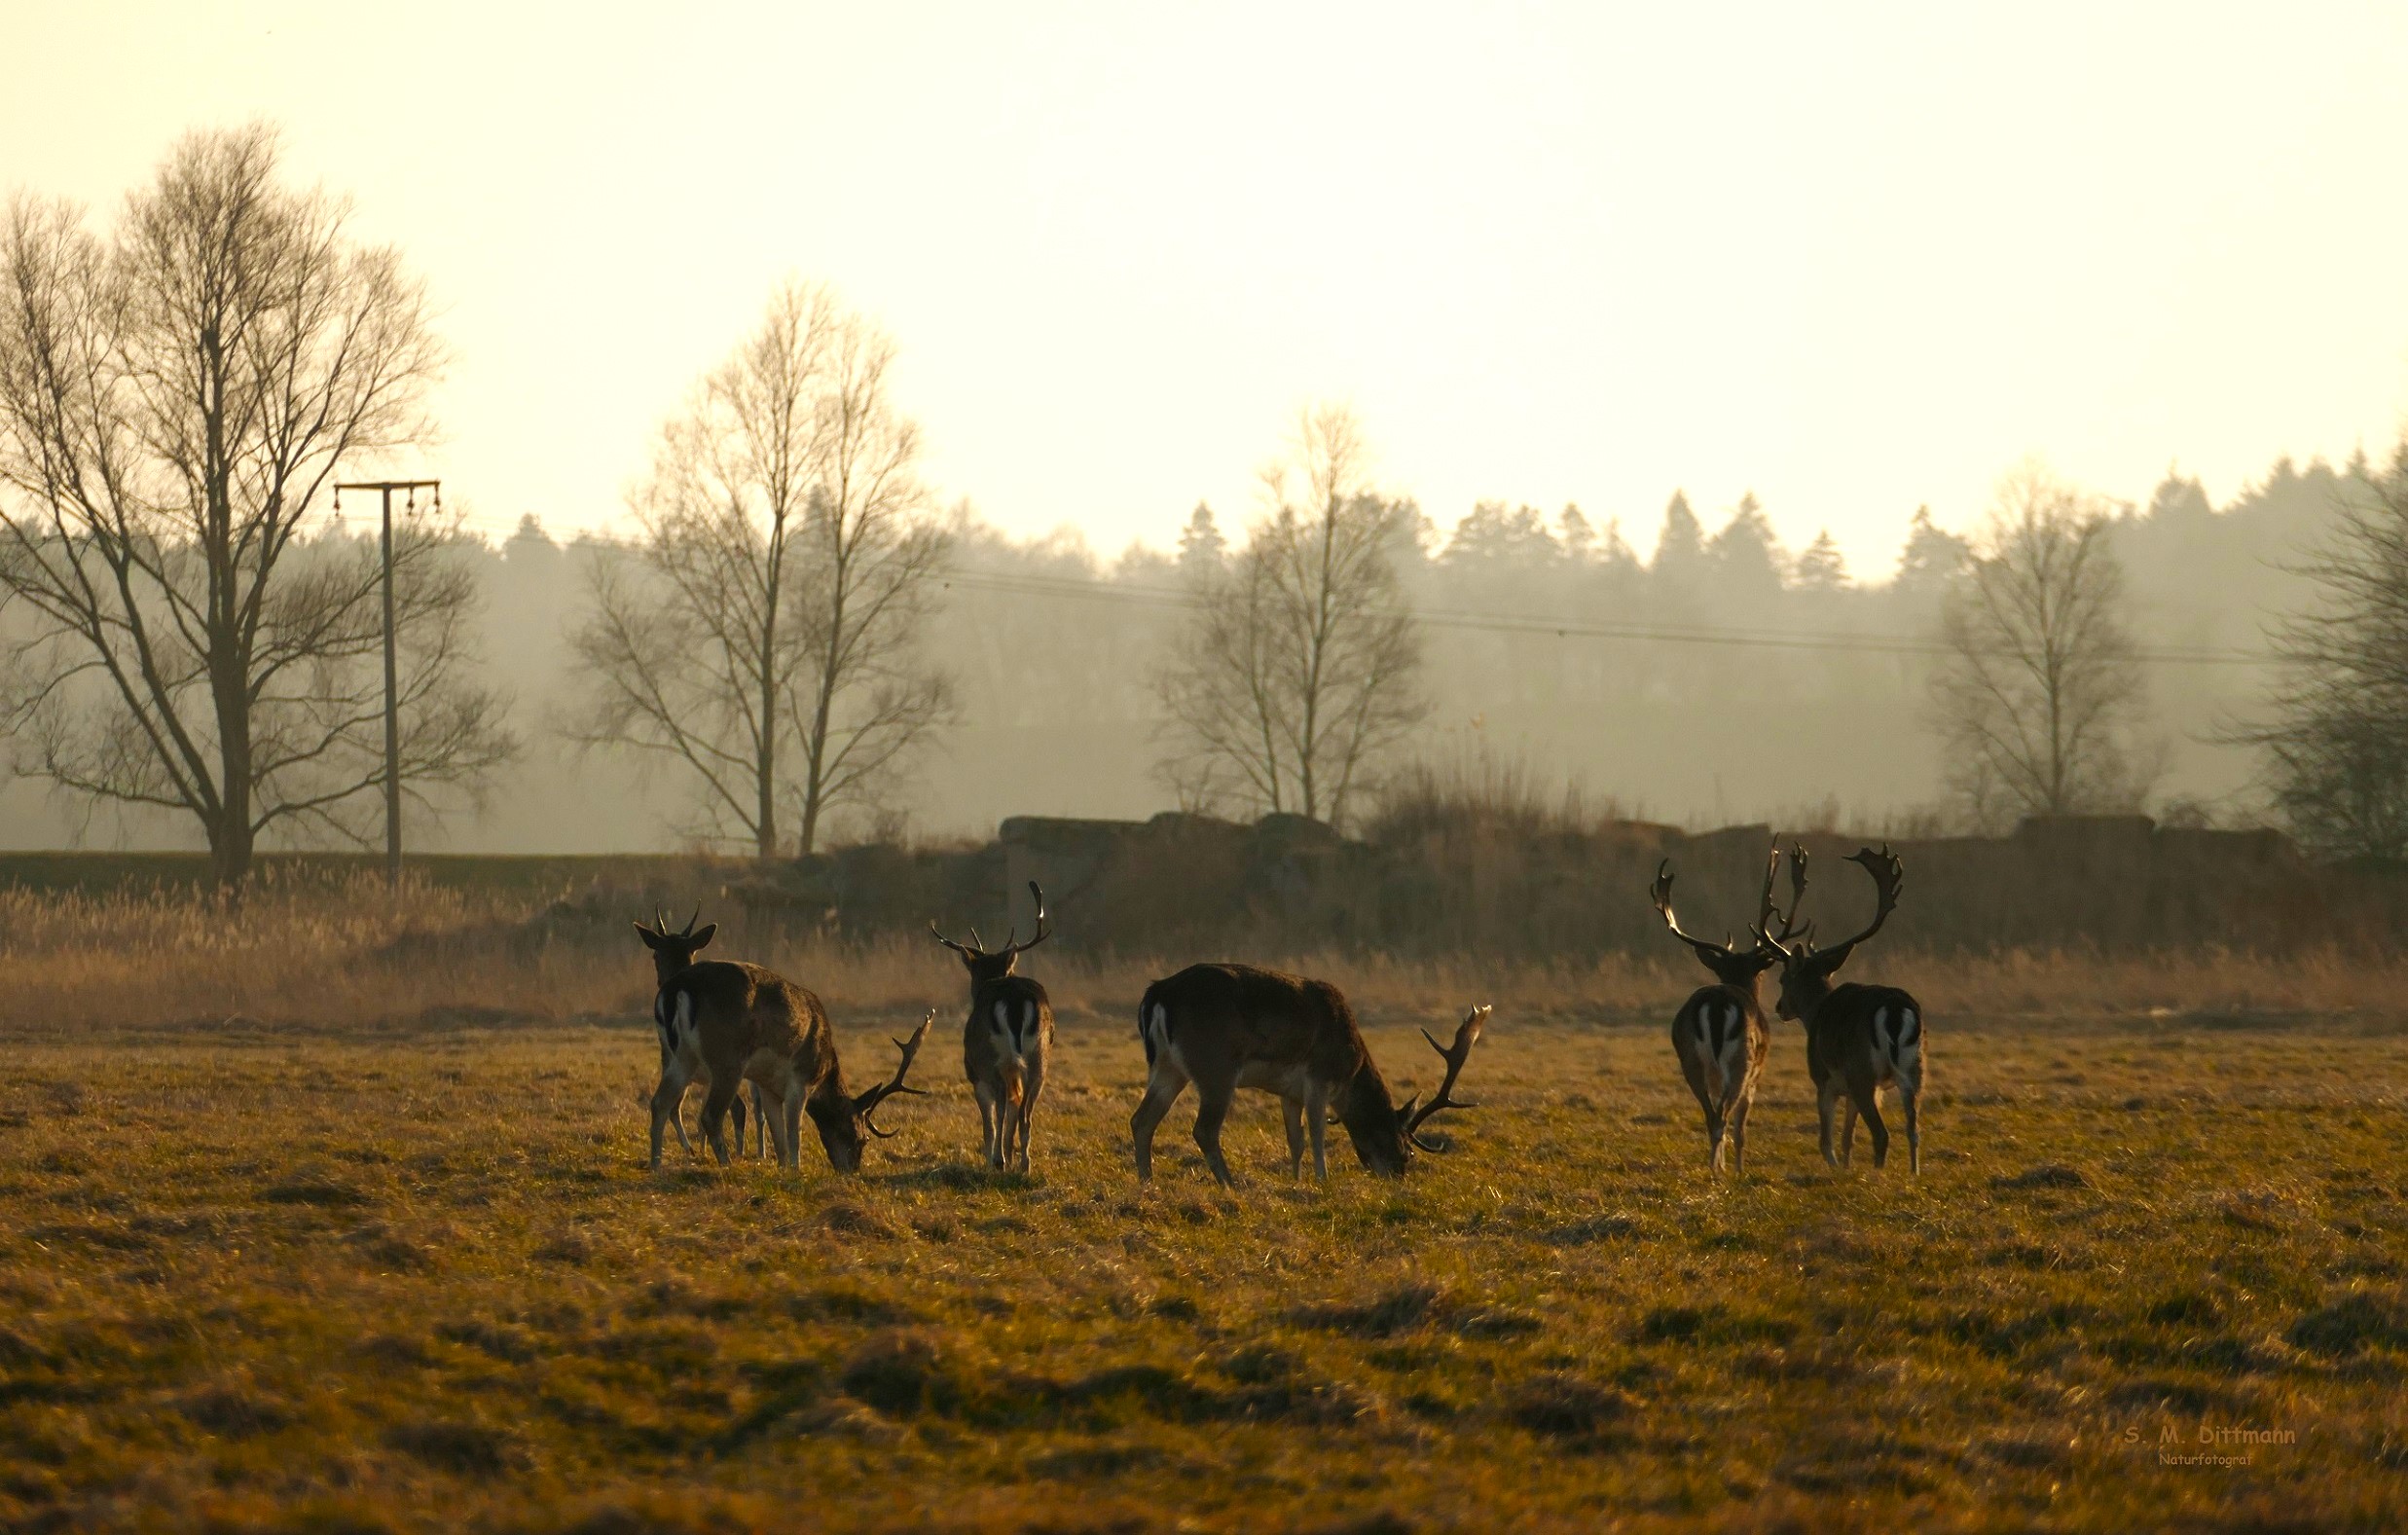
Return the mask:
M 713 904 L 718 913 L 725 901 Z M 395 904 L 373 877 L 270 880 L 243 906 L 190 894 L 0 889 L 0 1031 L 75 1039 L 193 1027 L 340 1029 L 624 1022 L 650 1007 L 650 969 L 626 918 L 636 892 L 551 908 L 525 892 L 412 884 Z M 840 1017 L 949 1007 L 958 971 L 920 935 L 838 942 L 734 916 L 720 954 L 802 978 Z M 1182 959 L 1045 952 L 1067 1017 L 1127 1019 Z M 1488 964 L 1476 954 L 1305 954 L 1361 1007 L 1440 1017 L 1474 1000 L 1524 1019 L 1669 1017 L 1702 974 L 1669 942 L 1645 957 Z M 1859 974 L 1861 971 L 1861 974 Z M 1852 969 L 1912 988 L 1941 1017 L 2408 1019 L 2408 957 L 2307 949 L 2093 954 L 1871 949 Z

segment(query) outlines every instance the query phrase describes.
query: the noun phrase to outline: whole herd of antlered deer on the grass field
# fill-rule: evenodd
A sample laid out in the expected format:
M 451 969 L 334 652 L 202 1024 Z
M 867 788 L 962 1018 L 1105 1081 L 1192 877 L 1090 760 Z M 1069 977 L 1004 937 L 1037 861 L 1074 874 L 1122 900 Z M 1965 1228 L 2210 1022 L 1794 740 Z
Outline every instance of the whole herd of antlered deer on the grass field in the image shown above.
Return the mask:
M 1707 942 L 1690 937 L 1671 911 L 1671 860 L 1657 870 L 1654 908 L 1674 937 L 1686 942 L 1714 974 L 1674 1014 L 1671 1041 L 1690 1092 L 1705 1111 L 1707 1159 L 1722 1169 L 1729 1142 L 1734 1171 L 1746 1171 L 1748 1106 L 1763 1077 L 1770 1051 L 1770 1027 L 1755 995 L 1758 978 L 1782 966 L 1777 1012 L 1806 1027 L 1806 1072 L 1816 1084 L 1823 1113 L 1823 1159 L 1847 1161 L 1864 1116 L 1873 1137 L 1873 1166 L 1890 1152 L 1890 1133 L 1881 1121 L 1881 1092 L 1898 1089 L 1907 1121 L 1907 1159 L 1922 1171 L 1922 1145 L 1914 1101 L 1922 1092 L 1922 1007 L 1893 986 L 1832 986 L 1832 974 L 1847 964 L 1859 942 L 1881 930 L 1898 906 L 1900 865 L 1888 848 L 1864 848 L 1852 855 L 1873 877 L 1878 906 L 1873 923 L 1832 947 L 1816 947 L 1813 928 L 1799 928 L 1796 913 L 1806 896 L 1806 851 L 1789 851 L 1792 901 L 1784 916 L 1772 904 L 1772 884 L 1782 851 L 1775 843 L 1765 863 L 1765 889 L 1753 945 Z M 1028 884 L 1038 904 L 1035 937 L 1019 942 L 1019 930 L 1004 947 L 987 949 L 970 928 L 970 942 L 956 942 L 929 923 L 929 935 L 961 957 L 970 974 L 970 1014 L 961 1031 L 961 1065 L 978 1096 L 982 1149 L 990 1169 L 1028 1171 L 1031 1130 L 1038 1094 L 1052 1058 L 1052 1002 L 1045 988 L 1019 971 L 1019 957 L 1052 937 L 1045 923 L 1045 892 Z M 720 1164 L 727 1164 L 725 1121 L 734 1116 L 737 1154 L 744 1154 L 744 1104 L 737 1096 L 751 1087 L 754 1149 L 773 1152 L 780 1166 L 799 1166 L 802 1116 L 811 1116 L 819 1142 L 836 1171 L 862 1164 L 869 1135 L 891 1135 L 877 1125 L 879 1104 L 905 1087 L 920 1046 L 937 1012 L 929 1010 L 910 1039 L 893 1041 L 901 1060 L 889 1080 L 867 1092 L 845 1092 L 845 1072 L 836 1058 L 836 1031 L 821 1000 L 785 976 L 759 964 L 696 961 L 710 945 L 718 923 L 701 930 L 686 921 L 681 933 L 653 916 L 636 923 L 660 978 L 653 998 L 653 1024 L 660 1029 L 660 1087 L 653 1089 L 653 1166 L 660 1166 L 662 1135 L 677 1130 L 677 1142 L 694 1154 L 684 1128 L 684 1099 L 694 1082 L 708 1082 L 703 1096 L 703 1137 Z M 1775 933 L 1777 925 L 1777 933 Z M 1305 1145 L 1312 1145 L 1312 1176 L 1327 1178 L 1324 1133 L 1334 1121 L 1353 1140 L 1363 1166 L 1401 1176 L 1411 1154 L 1442 1152 L 1445 1142 L 1421 1137 L 1421 1125 L 1445 1108 L 1474 1108 L 1454 1096 L 1454 1082 L 1481 1039 L 1488 1007 L 1474 1007 L 1454 1029 L 1454 1043 L 1442 1046 L 1423 1029 L 1423 1039 L 1447 1063 L 1445 1080 L 1430 1101 L 1418 1094 L 1397 1104 L 1387 1080 L 1363 1046 L 1346 995 L 1327 981 L 1308 981 L 1250 964 L 1192 964 L 1168 981 L 1146 988 L 1137 1005 L 1137 1036 L 1146 1048 L 1146 1096 L 1129 1118 L 1137 1152 L 1137 1176 L 1153 1174 L 1153 1130 L 1170 1113 L 1187 1084 L 1197 1089 L 1194 1140 L 1206 1166 L 1221 1183 L 1233 1183 L 1221 1157 L 1221 1125 L 1240 1087 L 1279 1094 L 1288 1130 L 1288 1176 L 1303 1171 Z M 1845 1113 L 1845 1128 L 1832 1149 L 1832 1123 Z

